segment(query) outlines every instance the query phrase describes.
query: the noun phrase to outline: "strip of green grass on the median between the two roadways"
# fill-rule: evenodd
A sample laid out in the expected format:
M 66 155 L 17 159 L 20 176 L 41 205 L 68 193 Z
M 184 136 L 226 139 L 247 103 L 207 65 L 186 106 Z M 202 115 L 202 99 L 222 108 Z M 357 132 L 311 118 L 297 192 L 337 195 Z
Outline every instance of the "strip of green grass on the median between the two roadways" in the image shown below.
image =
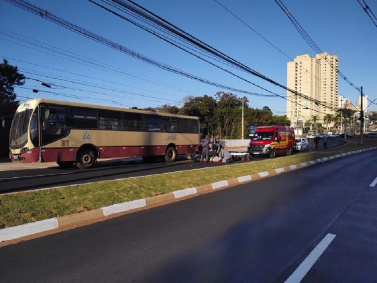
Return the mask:
M 343 152 L 377 146 L 377 139 L 359 137 L 336 149 L 284 158 L 260 159 L 231 166 L 214 167 L 171 174 L 145 176 L 118 181 L 0 195 L 0 228 L 16 226 L 51 217 L 100 208 L 125 201 L 152 197 L 179 189 L 210 184 L 244 175 L 268 171 Z

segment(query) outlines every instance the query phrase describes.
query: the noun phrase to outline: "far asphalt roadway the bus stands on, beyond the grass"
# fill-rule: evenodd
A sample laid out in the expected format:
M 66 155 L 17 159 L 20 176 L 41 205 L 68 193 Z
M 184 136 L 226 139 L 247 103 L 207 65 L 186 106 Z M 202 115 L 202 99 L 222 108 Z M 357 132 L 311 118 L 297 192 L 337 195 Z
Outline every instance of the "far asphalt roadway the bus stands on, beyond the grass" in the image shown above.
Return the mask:
M 328 148 L 337 147 L 342 140 L 329 139 Z M 319 144 L 319 149 L 323 149 Z M 310 142 L 310 151 L 316 151 L 314 142 Z M 296 153 L 297 154 L 297 153 Z M 279 157 L 282 158 L 282 157 Z M 256 157 L 253 160 L 260 160 Z M 181 170 L 191 170 L 203 167 L 223 166 L 222 164 L 201 164 L 191 161 L 173 163 L 144 163 L 141 158 L 129 161 L 99 162 L 96 166 L 86 170 L 75 168 L 61 169 L 59 167 L 44 169 L 28 169 L 0 172 L 0 193 L 50 188 L 72 184 L 82 184 L 103 180 L 114 180 L 150 174 L 161 174 Z

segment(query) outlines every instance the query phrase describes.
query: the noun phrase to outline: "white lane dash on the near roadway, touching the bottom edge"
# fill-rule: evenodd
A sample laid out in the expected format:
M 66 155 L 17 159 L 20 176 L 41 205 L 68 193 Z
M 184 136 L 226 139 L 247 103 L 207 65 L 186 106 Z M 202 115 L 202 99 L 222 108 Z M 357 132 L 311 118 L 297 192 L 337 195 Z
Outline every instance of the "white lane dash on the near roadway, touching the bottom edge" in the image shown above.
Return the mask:
M 300 282 L 306 273 L 312 268 L 314 263 L 318 260 L 321 254 L 329 246 L 332 240 L 335 238 L 334 234 L 327 234 L 322 241 L 312 250 L 312 252 L 304 259 L 304 261 L 297 267 L 295 272 L 286 280 L 288 283 L 297 283 Z

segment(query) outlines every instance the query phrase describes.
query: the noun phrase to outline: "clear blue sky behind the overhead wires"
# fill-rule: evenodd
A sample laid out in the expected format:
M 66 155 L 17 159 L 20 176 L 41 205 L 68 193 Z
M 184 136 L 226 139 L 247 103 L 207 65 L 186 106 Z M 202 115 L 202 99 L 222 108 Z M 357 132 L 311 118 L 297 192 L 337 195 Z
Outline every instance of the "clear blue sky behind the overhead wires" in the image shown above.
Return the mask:
M 32 0 L 31 2 L 85 29 L 178 69 L 236 88 L 266 93 L 168 45 L 88 1 Z M 136 2 L 254 70 L 282 84 L 287 83 L 287 62 L 289 59 L 242 25 L 215 1 L 136 0 Z M 306 53 L 311 56 L 315 55 L 314 51 L 300 37 L 289 19 L 273 0 L 219 0 L 219 2 L 290 57 L 294 58 Z M 372 24 L 357 1 L 285 0 L 283 2 L 324 52 L 338 55 L 339 69 L 345 76 L 357 86 L 362 85 L 369 98 L 377 98 L 377 28 Z M 366 2 L 374 14 L 377 15 L 376 1 L 367 0 Z M 222 90 L 148 65 L 114 49 L 74 34 L 4 1 L 0 1 L 0 18 L 2 19 L 0 26 L 2 29 L 101 61 L 111 65 L 111 68 L 121 68 L 125 72 L 132 72 L 132 75 L 136 74 L 138 76 L 138 78 L 135 78 L 84 66 L 27 48 L 25 46 L 30 47 L 29 43 L 21 43 L 0 34 L 0 56 L 8 58 L 10 64 L 17 65 L 20 71 L 25 72 L 28 77 L 85 90 L 85 92 L 67 88 L 51 90 L 56 93 L 103 99 L 102 102 L 88 98 L 79 99 L 82 102 L 114 105 L 110 101 L 105 101 L 112 100 L 116 101 L 115 104 L 123 107 L 148 107 L 165 103 L 181 106 L 183 98 L 187 95 L 214 95 L 217 91 Z M 0 31 L 4 32 L 4 30 Z M 9 40 L 25 46 L 12 43 Z M 41 48 L 32 47 L 41 50 Z M 44 51 L 48 52 L 47 50 Z M 11 58 L 34 64 L 16 61 Z M 47 69 L 35 64 L 101 80 Z M 135 95 L 59 81 L 42 77 L 42 74 L 53 77 L 67 77 L 69 80 L 76 82 L 81 80 L 85 81 L 86 84 L 96 84 L 104 88 L 121 89 Z M 286 93 L 283 89 L 274 87 L 261 79 L 246 74 L 242 75 L 269 90 L 279 94 Z M 140 77 L 142 79 L 139 79 Z M 25 87 L 28 88 L 36 86 L 38 86 L 38 82 L 32 80 L 27 80 L 25 84 Z M 40 86 L 38 88 L 50 90 Z M 95 94 L 89 91 L 103 92 L 105 94 Z M 35 94 L 31 90 L 20 88 L 17 88 L 17 94 L 27 97 L 78 101 L 78 99 L 61 95 L 42 92 Z M 143 96 L 138 96 L 137 94 Z M 350 98 L 353 103 L 355 103 L 359 95 L 354 88 L 341 78 L 339 78 L 339 94 Z M 243 94 L 238 95 L 243 96 Z M 248 98 L 252 107 L 261 108 L 267 105 L 275 114 L 285 112 L 286 101 L 284 99 L 253 96 L 248 96 Z M 25 99 L 20 98 L 20 100 Z M 370 109 L 375 110 L 377 108 L 374 106 Z

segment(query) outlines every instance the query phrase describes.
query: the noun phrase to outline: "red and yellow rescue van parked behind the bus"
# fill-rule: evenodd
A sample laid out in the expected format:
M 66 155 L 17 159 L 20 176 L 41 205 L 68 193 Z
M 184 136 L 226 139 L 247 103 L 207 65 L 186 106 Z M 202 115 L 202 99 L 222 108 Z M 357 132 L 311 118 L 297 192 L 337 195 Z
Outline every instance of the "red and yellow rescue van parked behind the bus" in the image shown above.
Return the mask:
M 248 152 L 250 155 L 269 156 L 291 155 L 295 150 L 296 139 L 293 128 L 289 126 L 257 127 L 250 136 Z

